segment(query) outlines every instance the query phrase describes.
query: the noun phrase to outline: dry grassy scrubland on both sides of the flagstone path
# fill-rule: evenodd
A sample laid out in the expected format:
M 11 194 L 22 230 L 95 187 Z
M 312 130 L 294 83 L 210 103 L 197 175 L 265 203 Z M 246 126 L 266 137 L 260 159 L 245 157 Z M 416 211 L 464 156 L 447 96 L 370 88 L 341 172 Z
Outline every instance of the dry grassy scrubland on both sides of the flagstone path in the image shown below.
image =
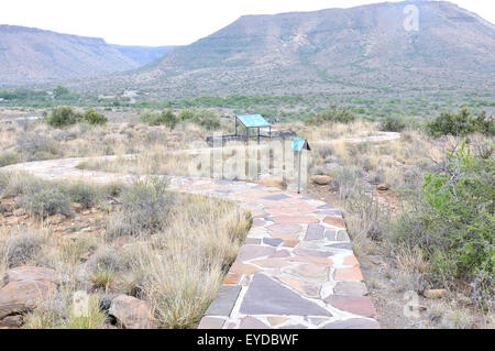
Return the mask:
M 131 122 L 110 118 L 103 125 L 1 123 L 0 165 L 88 157 L 79 168 L 190 175 L 196 154 L 187 150 L 210 147 L 204 141 L 215 130 L 233 132 L 232 120 L 211 111 L 207 118 L 188 110 L 141 114 Z M 309 179 L 320 180 L 310 180 L 305 193 L 343 210 L 386 328 L 493 328 L 493 118 L 469 120 L 472 125 L 459 129 L 466 133 L 433 138 L 431 130 L 441 121 L 371 122 L 331 107 L 306 123 L 276 125 L 309 141 Z M 400 139 L 366 141 L 384 131 L 400 132 Z M 224 145 L 224 162 L 239 156 L 234 146 L 242 144 Z M 116 157 L 99 158 L 103 155 Z M 170 194 L 155 178 L 131 186 L 63 184 L 42 190 L 33 190 L 41 180 L 24 174 L 1 179 L 0 274 L 35 265 L 68 277 L 50 304 L 22 316 L 26 328 L 109 327 L 116 321 L 106 311 L 116 295 L 146 301 L 150 326 L 194 327 L 250 226 L 234 205 Z M 295 177 L 272 180 L 285 187 Z M 69 308 L 69 296 L 78 290 L 90 294 L 95 307 L 84 325 Z M 403 307 L 410 292 L 417 300 L 409 318 Z

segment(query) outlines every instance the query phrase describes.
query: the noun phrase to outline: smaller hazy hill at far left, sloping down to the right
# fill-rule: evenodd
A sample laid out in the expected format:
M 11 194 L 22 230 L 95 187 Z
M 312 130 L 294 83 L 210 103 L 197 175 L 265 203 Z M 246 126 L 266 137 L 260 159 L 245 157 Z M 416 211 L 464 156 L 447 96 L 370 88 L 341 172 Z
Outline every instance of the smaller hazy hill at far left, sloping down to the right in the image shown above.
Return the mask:
M 0 86 L 107 75 L 139 67 L 101 39 L 0 25 Z

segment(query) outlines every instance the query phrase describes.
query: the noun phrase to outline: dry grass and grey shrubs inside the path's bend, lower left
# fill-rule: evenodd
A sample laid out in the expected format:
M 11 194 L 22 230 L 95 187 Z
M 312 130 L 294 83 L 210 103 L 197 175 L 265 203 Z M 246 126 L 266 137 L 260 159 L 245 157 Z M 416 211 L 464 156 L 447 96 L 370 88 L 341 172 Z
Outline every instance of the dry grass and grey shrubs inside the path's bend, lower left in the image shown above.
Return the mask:
M 33 265 L 62 277 L 55 294 L 22 316 L 23 327 L 109 328 L 109 301 L 119 294 L 148 301 L 157 327 L 195 327 L 237 256 L 250 215 L 229 201 L 166 188 L 160 178 L 94 185 L 0 173 L 1 200 L 14 198 L 26 211 L 25 228 L 0 230 L 0 274 Z M 73 209 L 74 201 L 82 209 Z M 54 216 L 97 216 L 101 229 L 61 233 L 50 224 Z M 74 315 L 76 292 L 89 294 L 88 317 Z

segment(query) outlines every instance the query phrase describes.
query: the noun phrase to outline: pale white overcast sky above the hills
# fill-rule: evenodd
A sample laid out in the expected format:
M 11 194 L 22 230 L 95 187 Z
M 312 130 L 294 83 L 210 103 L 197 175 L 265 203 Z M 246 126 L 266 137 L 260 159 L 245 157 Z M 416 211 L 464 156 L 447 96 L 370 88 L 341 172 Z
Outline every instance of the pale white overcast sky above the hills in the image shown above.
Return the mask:
M 3 0 L 0 24 L 85 36 L 111 44 L 184 45 L 243 14 L 350 8 L 381 0 Z M 494 0 L 451 0 L 495 23 Z

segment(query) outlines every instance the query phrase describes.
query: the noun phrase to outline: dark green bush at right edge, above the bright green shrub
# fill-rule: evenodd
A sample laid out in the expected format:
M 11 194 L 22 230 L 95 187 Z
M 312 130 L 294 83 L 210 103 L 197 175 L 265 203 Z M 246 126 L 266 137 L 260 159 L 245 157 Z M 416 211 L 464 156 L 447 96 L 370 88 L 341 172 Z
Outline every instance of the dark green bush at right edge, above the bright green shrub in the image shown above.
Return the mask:
M 481 132 L 487 135 L 495 134 L 495 121 L 486 116 L 485 111 L 474 116 L 468 108 L 462 108 L 459 113 L 443 111 L 438 118 L 428 123 L 431 135 L 468 135 Z

